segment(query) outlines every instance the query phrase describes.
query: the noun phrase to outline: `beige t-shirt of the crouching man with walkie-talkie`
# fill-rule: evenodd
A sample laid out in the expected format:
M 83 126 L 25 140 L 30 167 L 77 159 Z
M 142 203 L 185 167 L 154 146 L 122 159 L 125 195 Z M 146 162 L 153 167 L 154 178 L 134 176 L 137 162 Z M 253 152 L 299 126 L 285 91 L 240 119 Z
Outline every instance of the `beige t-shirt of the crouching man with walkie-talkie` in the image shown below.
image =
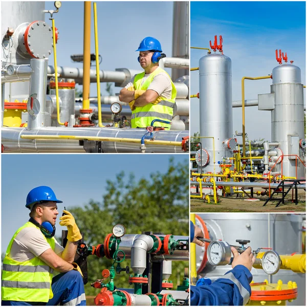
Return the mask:
M 60 254 L 64 248 L 55 240 L 54 252 Z M 50 248 L 41 231 L 34 227 L 21 229 L 16 235 L 9 257 L 15 261 L 24 262 L 41 255 Z

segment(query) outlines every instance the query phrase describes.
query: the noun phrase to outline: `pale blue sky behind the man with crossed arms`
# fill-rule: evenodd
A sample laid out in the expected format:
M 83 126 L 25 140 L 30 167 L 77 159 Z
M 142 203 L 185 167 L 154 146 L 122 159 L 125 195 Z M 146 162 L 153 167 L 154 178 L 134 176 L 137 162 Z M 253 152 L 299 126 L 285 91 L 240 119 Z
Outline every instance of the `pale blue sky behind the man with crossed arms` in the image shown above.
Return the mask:
M 46 10 L 54 10 L 54 2 L 46 2 Z M 83 54 L 83 2 L 63 1 L 59 12 L 54 14 L 59 31 L 57 43 L 58 66 L 83 68 L 82 63 L 73 63 L 72 54 Z M 152 11 L 159 14 L 151 14 Z M 102 56 L 100 70 L 115 71 L 116 68 L 142 70 L 138 62 L 140 41 L 146 36 L 160 40 L 167 56 L 172 53 L 172 2 L 99 2 L 97 1 L 97 24 L 99 54 Z M 50 15 L 46 22 L 51 25 Z M 91 53 L 95 53 L 94 13 L 92 2 Z M 54 66 L 53 54 L 49 65 Z M 92 69 L 96 70 L 95 63 Z M 167 69 L 170 73 L 170 69 Z M 106 95 L 101 83 L 101 94 Z M 79 86 L 78 86 L 79 87 Z M 113 94 L 120 87 L 113 87 Z M 82 86 L 79 87 L 82 89 Z M 91 83 L 91 97 L 97 97 L 96 83 Z

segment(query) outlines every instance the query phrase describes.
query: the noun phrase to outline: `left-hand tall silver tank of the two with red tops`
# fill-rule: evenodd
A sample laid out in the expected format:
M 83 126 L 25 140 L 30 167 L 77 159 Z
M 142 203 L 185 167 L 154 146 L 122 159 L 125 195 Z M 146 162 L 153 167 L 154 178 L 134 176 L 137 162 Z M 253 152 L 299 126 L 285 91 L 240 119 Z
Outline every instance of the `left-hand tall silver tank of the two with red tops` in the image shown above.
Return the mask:
M 232 137 L 231 59 L 221 54 L 209 54 L 200 59 L 200 133 L 214 137 L 215 165 L 224 153 L 231 157 L 222 142 Z M 201 139 L 203 149 L 213 157 L 212 139 Z M 213 172 L 213 159 L 206 166 Z

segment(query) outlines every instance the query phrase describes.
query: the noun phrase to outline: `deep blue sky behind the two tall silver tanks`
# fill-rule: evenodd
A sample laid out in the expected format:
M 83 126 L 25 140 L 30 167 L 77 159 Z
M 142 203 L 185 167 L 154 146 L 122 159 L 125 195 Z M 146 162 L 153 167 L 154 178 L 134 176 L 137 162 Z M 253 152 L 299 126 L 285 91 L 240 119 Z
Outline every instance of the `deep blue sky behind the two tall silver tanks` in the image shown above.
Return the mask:
M 223 36 L 223 51 L 232 60 L 232 100 L 240 100 L 243 76 L 272 73 L 275 50 L 287 52 L 288 63 L 301 69 L 306 84 L 305 2 L 191 2 L 191 46 L 209 48 L 214 35 Z M 191 67 L 199 67 L 205 50 L 191 49 Z M 245 99 L 270 93 L 270 79 L 245 81 Z M 199 92 L 198 71 L 191 72 L 191 94 Z M 305 89 L 304 89 L 305 99 Z M 199 100 L 191 99 L 191 134 L 199 131 Z M 271 112 L 246 108 L 246 132 L 251 140 L 271 140 Z M 233 131 L 242 131 L 242 108 L 233 108 Z

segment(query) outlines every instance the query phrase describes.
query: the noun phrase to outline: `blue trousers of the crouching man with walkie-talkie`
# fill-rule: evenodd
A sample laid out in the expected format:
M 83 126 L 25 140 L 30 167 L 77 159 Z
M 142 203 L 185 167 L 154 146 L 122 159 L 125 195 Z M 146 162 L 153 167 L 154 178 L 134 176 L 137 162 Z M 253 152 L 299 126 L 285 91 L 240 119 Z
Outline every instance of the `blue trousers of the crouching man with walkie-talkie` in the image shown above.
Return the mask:
M 43 302 L 21 302 L 21 301 L 2 301 L 3 306 L 35 306 L 35 305 L 65 305 L 65 306 L 85 306 L 85 293 L 83 279 L 79 272 L 69 271 L 61 273 L 52 278 L 53 298 L 47 303 Z

